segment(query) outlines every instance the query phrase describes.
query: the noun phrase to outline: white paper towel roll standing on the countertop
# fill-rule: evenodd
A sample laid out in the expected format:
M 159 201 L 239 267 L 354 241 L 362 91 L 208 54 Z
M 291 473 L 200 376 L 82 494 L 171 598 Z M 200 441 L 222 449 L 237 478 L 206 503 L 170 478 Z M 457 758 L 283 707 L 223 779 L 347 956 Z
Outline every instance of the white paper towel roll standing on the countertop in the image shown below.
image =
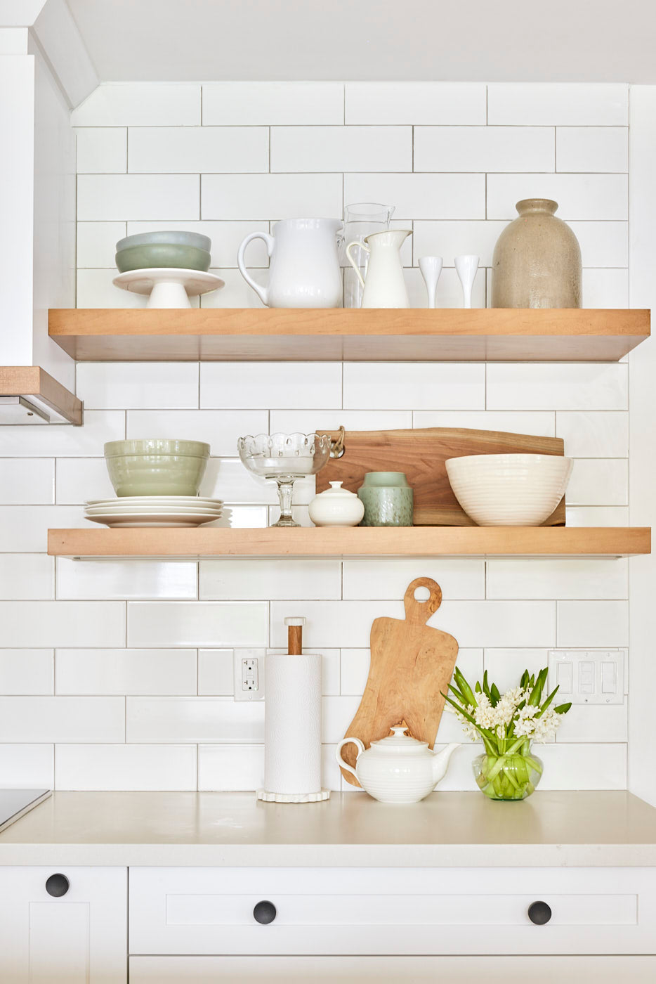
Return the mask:
M 322 657 L 267 656 L 265 789 L 317 793 L 322 788 Z

